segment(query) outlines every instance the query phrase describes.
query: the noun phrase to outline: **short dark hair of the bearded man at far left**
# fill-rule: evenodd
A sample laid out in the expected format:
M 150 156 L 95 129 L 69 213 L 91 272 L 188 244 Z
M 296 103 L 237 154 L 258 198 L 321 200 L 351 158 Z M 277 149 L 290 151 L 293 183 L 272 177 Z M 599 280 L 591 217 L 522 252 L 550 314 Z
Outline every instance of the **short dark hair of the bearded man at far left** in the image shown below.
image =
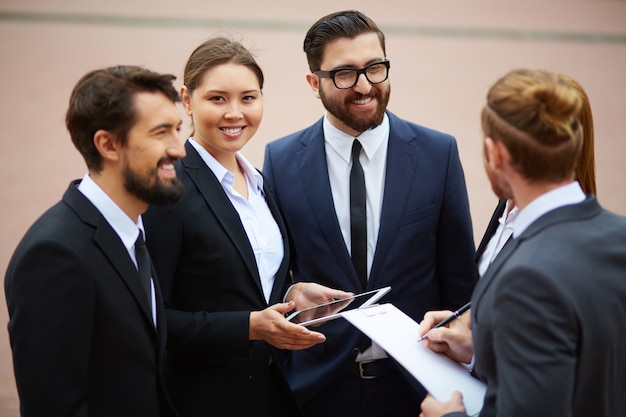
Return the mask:
M 148 69 L 118 65 L 85 74 L 74 86 L 65 125 L 72 142 L 81 153 L 87 168 L 102 170 L 102 157 L 93 138 L 98 130 L 106 130 L 126 144 L 129 130 L 137 121 L 135 94 L 160 92 L 176 103 L 180 96 L 172 84 L 171 74 L 159 74 Z

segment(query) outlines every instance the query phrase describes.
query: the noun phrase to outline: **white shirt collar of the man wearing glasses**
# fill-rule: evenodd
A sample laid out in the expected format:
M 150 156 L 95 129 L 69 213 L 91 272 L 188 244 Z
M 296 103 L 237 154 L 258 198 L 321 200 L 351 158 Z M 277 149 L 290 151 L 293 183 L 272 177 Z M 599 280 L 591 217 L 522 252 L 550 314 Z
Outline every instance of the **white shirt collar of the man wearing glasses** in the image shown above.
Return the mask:
M 355 138 L 333 126 L 326 115 L 324 115 L 323 128 L 326 143 L 328 143 L 330 147 L 333 148 L 343 160 L 345 160 L 346 163 L 350 163 L 350 160 L 352 159 L 352 142 Z M 383 142 L 385 142 L 388 138 L 389 118 L 385 113 L 383 121 L 380 125 L 373 129 L 366 130 L 356 139 L 361 142 L 363 152 L 365 153 L 367 159 L 371 160 L 376 152 L 378 152 Z

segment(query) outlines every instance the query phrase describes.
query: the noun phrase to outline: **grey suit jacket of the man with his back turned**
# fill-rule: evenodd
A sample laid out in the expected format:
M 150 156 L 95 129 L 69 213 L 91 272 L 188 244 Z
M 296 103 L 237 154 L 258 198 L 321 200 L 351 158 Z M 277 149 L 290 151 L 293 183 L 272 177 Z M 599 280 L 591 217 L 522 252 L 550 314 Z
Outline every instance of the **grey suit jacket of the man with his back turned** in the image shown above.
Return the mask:
M 626 219 L 594 197 L 511 239 L 472 297 L 480 415 L 623 415 L 625 300 Z

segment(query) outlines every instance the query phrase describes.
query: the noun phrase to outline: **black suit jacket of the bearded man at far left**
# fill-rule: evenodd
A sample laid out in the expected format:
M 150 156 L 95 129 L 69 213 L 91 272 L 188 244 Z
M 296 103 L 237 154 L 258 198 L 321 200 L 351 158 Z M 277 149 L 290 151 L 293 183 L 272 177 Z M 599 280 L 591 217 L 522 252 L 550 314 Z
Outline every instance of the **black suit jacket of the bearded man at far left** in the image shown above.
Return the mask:
M 174 415 L 161 294 L 155 329 L 126 248 L 76 185 L 33 224 L 6 273 L 21 415 Z

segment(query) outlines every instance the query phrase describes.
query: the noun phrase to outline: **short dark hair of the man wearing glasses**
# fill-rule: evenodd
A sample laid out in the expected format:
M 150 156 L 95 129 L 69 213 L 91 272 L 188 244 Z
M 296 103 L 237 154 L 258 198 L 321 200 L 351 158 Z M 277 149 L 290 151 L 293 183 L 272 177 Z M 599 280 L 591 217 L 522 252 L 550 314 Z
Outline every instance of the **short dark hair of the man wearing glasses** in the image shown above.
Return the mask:
M 385 56 L 385 34 L 372 19 L 356 10 L 331 13 L 313 23 L 304 37 L 304 52 L 311 72 L 319 71 L 324 56 L 324 48 L 339 38 L 354 39 L 364 33 L 378 35 Z

